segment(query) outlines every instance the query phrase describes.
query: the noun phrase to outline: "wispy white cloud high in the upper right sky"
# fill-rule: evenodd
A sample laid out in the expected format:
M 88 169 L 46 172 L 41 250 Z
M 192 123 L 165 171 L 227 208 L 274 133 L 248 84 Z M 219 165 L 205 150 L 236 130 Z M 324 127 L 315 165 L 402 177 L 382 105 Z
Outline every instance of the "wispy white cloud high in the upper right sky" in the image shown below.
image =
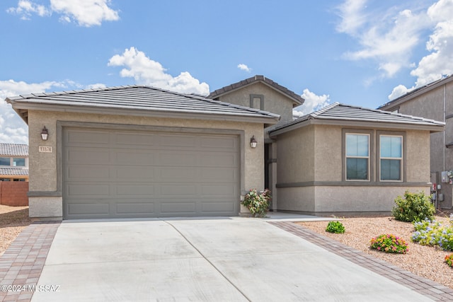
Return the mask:
M 377 11 L 367 9 L 366 1 L 348 0 L 338 9 L 342 18 L 338 32 L 351 35 L 360 45 L 359 50 L 347 52 L 344 57 L 375 60 L 383 77 L 412 66 L 410 54 L 420 44 L 423 30 L 432 25 L 427 14 L 416 7 Z

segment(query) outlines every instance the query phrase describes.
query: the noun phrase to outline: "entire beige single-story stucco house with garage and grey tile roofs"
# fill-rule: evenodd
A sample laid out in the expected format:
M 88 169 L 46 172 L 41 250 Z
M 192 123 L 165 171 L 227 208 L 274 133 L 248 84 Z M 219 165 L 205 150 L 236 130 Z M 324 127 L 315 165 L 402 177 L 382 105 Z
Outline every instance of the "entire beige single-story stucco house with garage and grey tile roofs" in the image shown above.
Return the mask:
M 304 99 L 264 76 L 207 98 L 120 86 L 6 102 L 28 124 L 40 219 L 234 216 L 265 187 L 275 211 L 388 212 L 405 190 L 429 192 L 430 133 L 444 127 L 338 103 L 293 120 Z

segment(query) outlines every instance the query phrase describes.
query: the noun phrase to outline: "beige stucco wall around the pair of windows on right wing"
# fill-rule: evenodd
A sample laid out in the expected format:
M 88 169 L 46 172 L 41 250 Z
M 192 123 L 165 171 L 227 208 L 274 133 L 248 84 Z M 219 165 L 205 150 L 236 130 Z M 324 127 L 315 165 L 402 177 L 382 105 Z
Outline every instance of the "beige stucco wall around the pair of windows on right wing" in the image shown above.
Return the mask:
M 373 131 L 377 140 L 378 131 L 383 130 Z M 310 125 L 280 134 L 277 137 L 277 209 L 312 214 L 389 212 L 394 199 L 406 190 L 423 190 L 430 194 L 430 132 L 393 131 L 405 133 L 407 185 L 404 182 L 392 185 L 376 181 L 343 181 L 343 132 L 340 126 Z M 372 163 L 374 179 L 378 177 L 377 161 Z

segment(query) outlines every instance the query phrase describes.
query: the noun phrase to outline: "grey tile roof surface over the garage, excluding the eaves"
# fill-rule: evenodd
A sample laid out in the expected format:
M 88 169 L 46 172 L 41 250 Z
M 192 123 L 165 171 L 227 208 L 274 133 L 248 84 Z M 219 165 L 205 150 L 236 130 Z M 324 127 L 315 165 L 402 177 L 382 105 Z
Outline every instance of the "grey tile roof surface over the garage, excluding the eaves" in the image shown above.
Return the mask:
M 142 112 L 183 112 L 202 115 L 263 117 L 270 121 L 277 121 L 280 118 L 280 115 L 263 110 L 219 102 L 200 95 L 176 93 L 150 86 L 118 86 L 58 93 L 33 93 L 6 98 L 6 102 L 13 104 L 13 108 L 16 103 L 25 103 L 31 105 L 82 106 L 84 108 L 97 109 L 141 110 Z

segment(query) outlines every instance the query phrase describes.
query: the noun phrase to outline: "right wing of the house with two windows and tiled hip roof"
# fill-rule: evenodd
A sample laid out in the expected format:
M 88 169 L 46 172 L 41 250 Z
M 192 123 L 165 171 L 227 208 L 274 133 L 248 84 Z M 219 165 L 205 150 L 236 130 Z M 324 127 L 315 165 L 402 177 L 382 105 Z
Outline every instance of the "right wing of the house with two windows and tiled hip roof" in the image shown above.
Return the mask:
M 277 209 L 388 213 L 406 190 L 429 193 L 430 133 L 442 122 L 334 103 L 270 131 Z

